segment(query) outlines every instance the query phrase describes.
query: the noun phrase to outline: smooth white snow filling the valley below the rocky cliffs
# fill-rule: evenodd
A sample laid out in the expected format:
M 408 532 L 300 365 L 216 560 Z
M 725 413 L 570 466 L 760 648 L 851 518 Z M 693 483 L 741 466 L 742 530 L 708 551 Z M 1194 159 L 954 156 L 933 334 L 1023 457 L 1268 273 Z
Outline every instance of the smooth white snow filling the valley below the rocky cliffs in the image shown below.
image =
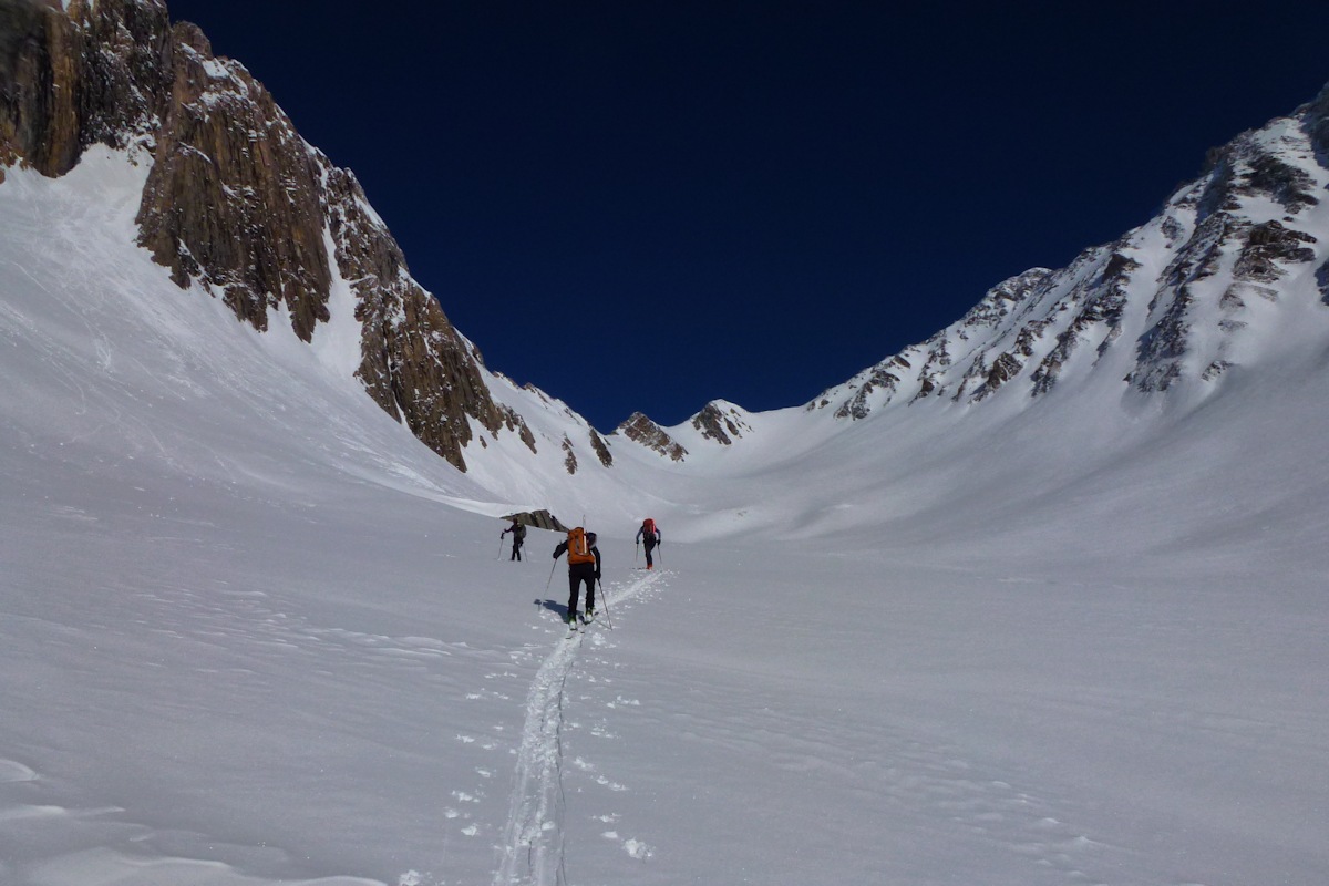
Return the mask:
M 0 185 L 0 883 L 1325 882 L 1324 337 L 613 469 L 494 376 L 540 452 L 460 474 L 342 284 L 314 347 L 171 284 L 145 175 Z M 573 636 L 541 505 L 601 535 Z

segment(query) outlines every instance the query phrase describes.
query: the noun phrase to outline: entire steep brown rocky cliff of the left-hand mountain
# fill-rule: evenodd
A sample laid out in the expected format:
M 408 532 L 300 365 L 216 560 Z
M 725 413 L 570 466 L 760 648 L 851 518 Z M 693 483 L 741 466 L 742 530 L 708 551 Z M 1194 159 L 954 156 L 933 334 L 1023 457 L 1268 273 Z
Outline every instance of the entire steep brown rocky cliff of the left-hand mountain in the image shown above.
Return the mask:
M 533 445 L 354 175 L 310 147 L 243 65 L 171 25 L 159 0 L 0 0 L 0 174 L 23 162 L 61 175 L 93 143 L 152 155 L 140 242 L 179 286 L 259 329 L 284 312 L 310 341 L 335 271 L 363 328 L 356 375 L 384 410 L 461 470 L 472 420 Z

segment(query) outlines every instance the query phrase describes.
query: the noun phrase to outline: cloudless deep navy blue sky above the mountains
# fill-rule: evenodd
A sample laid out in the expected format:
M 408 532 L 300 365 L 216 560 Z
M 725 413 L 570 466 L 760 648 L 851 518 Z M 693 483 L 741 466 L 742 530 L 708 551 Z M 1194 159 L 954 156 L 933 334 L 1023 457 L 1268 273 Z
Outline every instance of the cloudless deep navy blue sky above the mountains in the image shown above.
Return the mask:
M 800 405 L 1329 81 L 1321 0 L 167 3 L 605 432 Z

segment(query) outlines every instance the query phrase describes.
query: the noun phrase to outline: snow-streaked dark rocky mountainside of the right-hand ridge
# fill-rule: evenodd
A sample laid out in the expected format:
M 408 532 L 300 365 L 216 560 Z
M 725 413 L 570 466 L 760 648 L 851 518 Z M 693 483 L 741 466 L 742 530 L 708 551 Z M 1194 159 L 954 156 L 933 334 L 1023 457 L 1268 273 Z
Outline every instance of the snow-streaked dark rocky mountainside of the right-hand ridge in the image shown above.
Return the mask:
M 893 402 L 1041 397 L 1067 373 L 1095 371 L 1115 373 L 1123 393 L 1203 393 L 1240 363 L 1252 320 L 1293 298 L 1294 280 L 1314 274 L 1329 304 L 1329 231 L 1316 214 L 1326 183 L 1329 88 L 1211 151 L 1200 178 L 1120 240 L 1006 280 L 807 409 L 859 420 Z

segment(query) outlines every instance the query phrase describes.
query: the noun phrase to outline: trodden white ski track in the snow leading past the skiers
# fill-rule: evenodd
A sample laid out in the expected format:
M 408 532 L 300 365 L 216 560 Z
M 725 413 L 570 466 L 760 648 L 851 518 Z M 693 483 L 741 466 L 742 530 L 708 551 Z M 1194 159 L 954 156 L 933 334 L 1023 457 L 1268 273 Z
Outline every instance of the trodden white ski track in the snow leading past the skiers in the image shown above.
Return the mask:
M 655 584 L 661 573 L 630 582 L 607 603 L 626 602 Z M 603 590 L 603 588 L 602 588 Z M 563 870 L 563 688 L 586 631 L 558 640 L 526 695 L 526 721 L 517 751 L 502 861 L 493 886 L 566 886 Z

